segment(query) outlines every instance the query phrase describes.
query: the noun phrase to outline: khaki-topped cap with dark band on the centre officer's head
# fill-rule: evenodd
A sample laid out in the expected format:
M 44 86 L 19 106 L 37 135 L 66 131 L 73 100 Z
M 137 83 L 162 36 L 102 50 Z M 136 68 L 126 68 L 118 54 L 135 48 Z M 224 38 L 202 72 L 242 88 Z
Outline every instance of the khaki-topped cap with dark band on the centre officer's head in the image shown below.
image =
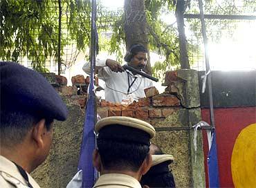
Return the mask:
M 149 140 L 154 137 L 154 127 L 142 120 L 125 116 L 102 118 L 95 124 L 98 139 L 118 140 L 120 142 L 135 142 L 149 146 Z

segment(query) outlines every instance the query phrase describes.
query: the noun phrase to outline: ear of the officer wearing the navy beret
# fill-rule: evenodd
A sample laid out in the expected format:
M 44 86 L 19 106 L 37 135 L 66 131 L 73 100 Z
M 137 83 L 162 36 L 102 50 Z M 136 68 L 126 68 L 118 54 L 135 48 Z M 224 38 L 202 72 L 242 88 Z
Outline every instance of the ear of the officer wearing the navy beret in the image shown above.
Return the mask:
M 44 147 L 44 134 L 46 133 L 47 129 L 45 126 L 45 119 L 40 120 L 33 126 L 32 130 L 32 138 L 37 144 L 37 147 L 42 148 Z

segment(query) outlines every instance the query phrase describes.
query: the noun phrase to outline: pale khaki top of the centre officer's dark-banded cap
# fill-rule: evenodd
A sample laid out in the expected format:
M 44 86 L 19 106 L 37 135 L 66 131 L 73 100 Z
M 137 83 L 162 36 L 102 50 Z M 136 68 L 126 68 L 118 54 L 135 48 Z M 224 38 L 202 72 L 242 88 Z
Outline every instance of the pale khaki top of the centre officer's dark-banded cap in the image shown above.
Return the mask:
M 125 116 L 112 116 L 108 118 L 102 118 L 95 124 L 95 133 L 98 134 L 100 129 L 113 124 L 140 129 L 141 131 L 148 133 L 150 138 L 154 138 L 154 135 L 156 135 L 156 131 L 151 124 L 144 122 L 143 120 Z

